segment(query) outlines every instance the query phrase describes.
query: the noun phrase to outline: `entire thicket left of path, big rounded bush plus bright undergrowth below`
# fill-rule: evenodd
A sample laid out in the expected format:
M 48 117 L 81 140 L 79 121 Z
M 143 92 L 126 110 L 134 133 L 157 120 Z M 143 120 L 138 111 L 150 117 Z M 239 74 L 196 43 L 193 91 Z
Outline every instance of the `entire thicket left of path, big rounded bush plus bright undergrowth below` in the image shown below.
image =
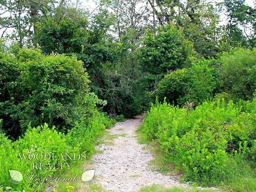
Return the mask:
M 0 58 L 0 186 L 40 191 L 40 181 L 27 182 L 27 174 L 56 177 L 58 163 L 77 162 L 60 155 L 83 153 L 90 157 L 95 140 L 112 124 L 96 108 L 106 101 L 90 92 L 88 75 L 75 56 L 44 56 L 39 49 L 22 48 L 0 52 Z M 49 153 L 57 159 L 22 159 L 22 153 Z M 32 169 L 32 163 L 57 166 L 40 170 Z M 25 179 L 11 184 L 9 170 L 20 171 Z

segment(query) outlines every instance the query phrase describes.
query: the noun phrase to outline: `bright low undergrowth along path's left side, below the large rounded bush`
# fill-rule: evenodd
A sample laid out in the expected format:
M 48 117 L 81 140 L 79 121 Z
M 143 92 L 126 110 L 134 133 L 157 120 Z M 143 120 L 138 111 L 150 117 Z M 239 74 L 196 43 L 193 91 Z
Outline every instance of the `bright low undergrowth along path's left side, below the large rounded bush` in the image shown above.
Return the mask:
M 37 177 L 44 178 L 47 174 L 51 176 L 58 177 L 58 174 L 61 170 L 60 163 L 72 163 L 69 165 L 72 167 L 73 164 L 76 164 L 74 160 L 74 153 L 79 155 L 84 154 L 87 158 L 91 155 L 93 149 L 93 143 L 102 130 L 106 126 L 110 126 L 110 121 L 107 117 L 103 115 L 95 115 L 88 123 L 85 121 L 76 122 L 74 128 L 71 129 L 67 135 L 57 132 L 55 127 L 50 128 L 48 124 L 38 126 L 37 128 L 28 128 L 27 132 L 19 140 L 12 142 L 4 134 L 0 134 L 0 168 L 1 168 L 1 181 L 0 186 L 11 186 L 13 189 L 26 191 L 39 191 L 42 187 L 39 182 L 36 180 L 25 181 L 27 176 L 30 175 L 29 172 L 36 172 Z M 54 159 L 51 156 L 51 159 L 42 160 L 33 159 L 29 160 L 28 156 L 26 160 L 20 158 L 19 153 L 26 155 L 29 154 L 54 154 Z M 65 154 L 71 154 L 72 159 L 65 159 Z M 61 158 L 61 155 L 64 158 Z M 33 155 L 31 155 L 33 157 Z M 39 158 L 41 156 L 39 155 Z M 60 157 L 60 158 L 59 158 Z M 76 156 L 76 159 L 78 156 Z M 80 160 L 83 160 L 84 157 L 81 157 Z M 32 169 L 32 163 L 37 163 L 37 168 L 39 168 L 39 163 L 50 164 L 53 166 L 53 163 L 56 164 L 56 169 L 48 170 L 39 170 Z M 68 165 L 62 167 L 64 170 L 67 170 Z M 18 185 L 11 184 L 9 170 L 18 170 L 23 174 L 23 181 Z M 53 175 L 54 174 L 54 175 Z M 74 175 L 75 176 L 75 175 Z M 54 178 L 53 177 L 53 178 Z M 43 182 L 44 183 L 44 182 Z

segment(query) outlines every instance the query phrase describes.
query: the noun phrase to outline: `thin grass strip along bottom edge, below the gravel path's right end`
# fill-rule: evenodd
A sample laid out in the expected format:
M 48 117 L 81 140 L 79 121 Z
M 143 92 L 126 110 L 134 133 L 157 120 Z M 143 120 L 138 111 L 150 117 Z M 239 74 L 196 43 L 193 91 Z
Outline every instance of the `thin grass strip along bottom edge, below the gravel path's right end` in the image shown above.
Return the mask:
M 147 186 L 143 187 L 140 189 L 139 192 L 219 192 L 219 190 L 212 190 L 212 189 L 198 189 L 198 188 L 165 188 L 164 186 L 161 185 L 152 185 L 152 186 Z

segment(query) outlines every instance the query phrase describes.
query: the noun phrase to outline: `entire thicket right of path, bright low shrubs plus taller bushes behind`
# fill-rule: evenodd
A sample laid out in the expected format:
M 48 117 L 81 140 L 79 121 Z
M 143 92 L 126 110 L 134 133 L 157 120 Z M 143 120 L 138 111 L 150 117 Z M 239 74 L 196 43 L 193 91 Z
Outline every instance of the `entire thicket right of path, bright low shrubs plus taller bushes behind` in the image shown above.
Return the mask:
M 164 103 L 151 105 L 142 130 L 185 181 L 256 190 L 255 56 L 255 49 L 223 52 L 159 82 Z

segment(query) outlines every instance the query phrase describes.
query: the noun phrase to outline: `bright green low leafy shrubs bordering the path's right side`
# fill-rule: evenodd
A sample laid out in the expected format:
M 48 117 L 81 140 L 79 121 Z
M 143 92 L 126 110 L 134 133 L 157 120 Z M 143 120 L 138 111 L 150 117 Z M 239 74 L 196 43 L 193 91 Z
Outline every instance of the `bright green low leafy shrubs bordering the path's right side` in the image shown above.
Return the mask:
M 184 172 L 185 180 L 207 178 L 212 185 L 216 170 L 226 171 L 222 174 L 230 177 L 228 167 L 238 158 L 241 163 L 254 165 L 255 110 L 256 99 L 236 104 L 204 102 L 195 109 L 156 103 L 143 120 L 142 129 L 160 143 L 168 162 Z M 214 184 L 223 180 L 218 182 Z

